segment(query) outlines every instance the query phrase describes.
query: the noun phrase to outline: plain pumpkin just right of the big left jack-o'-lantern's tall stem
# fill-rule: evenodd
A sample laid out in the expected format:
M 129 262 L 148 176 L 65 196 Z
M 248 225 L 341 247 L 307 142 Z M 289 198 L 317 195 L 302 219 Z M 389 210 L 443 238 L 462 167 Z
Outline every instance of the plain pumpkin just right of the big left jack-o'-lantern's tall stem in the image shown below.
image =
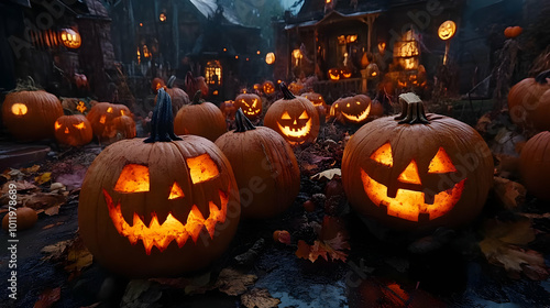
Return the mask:
M 191 105 L 179 109 L 174 119 L 174 131 L 178 135 L 199 135 L 215 142 L 227 132 L 226 117 L 216 105 L 202 100 L 201 95 L 198 90 Z

